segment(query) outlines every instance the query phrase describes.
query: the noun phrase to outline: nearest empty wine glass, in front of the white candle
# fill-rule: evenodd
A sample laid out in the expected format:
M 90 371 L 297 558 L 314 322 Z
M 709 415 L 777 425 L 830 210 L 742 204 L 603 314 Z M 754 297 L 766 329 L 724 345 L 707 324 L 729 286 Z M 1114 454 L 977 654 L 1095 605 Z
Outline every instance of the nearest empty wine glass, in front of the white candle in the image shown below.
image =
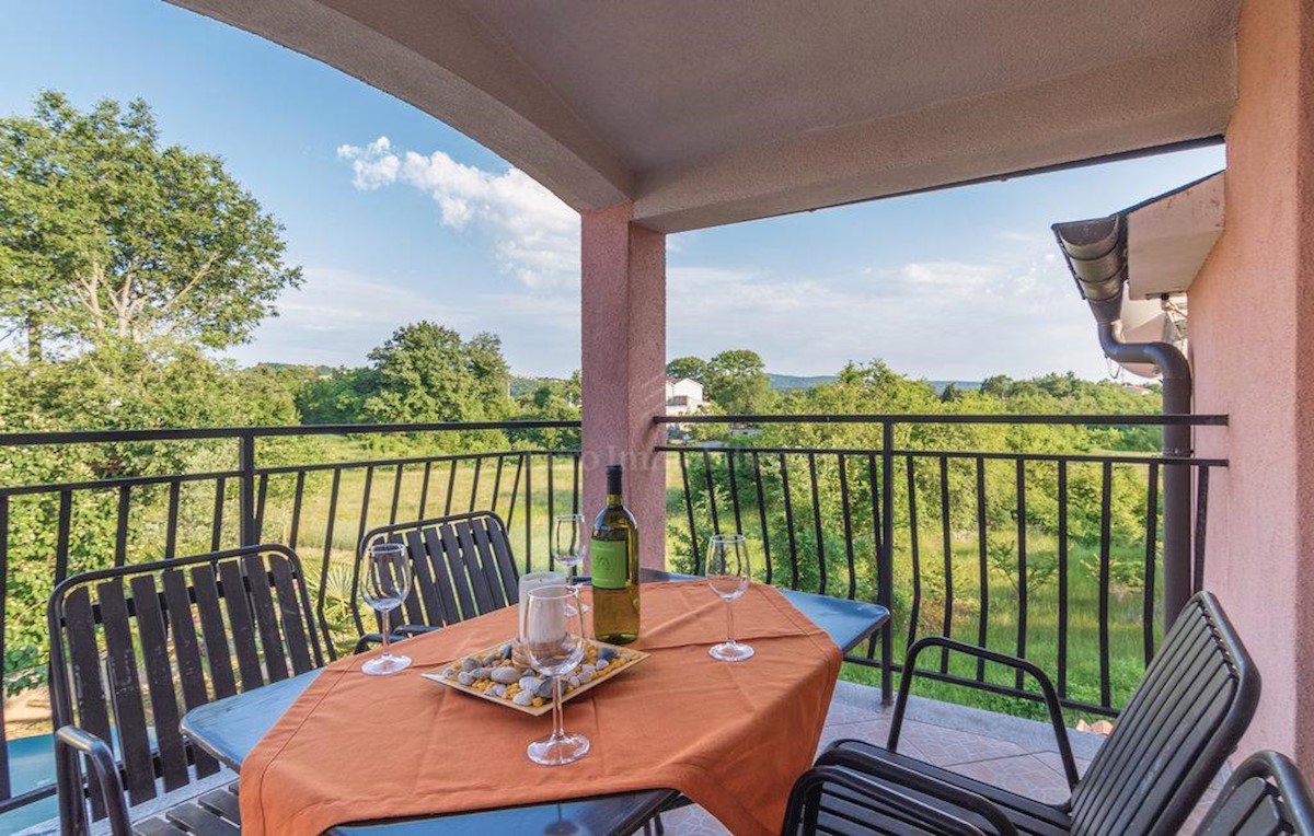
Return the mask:
M 520 633 L 530 664 L 552 677 L 552 734 L 535 740 L 526 752 L 536 764 L 558 766 L 583 757 L 589 738 L 566 734 L 561 723 L 561 677 L 583 660 L 583 619 L 579 592 L 573 587 L 540 587 L 530 591 Z

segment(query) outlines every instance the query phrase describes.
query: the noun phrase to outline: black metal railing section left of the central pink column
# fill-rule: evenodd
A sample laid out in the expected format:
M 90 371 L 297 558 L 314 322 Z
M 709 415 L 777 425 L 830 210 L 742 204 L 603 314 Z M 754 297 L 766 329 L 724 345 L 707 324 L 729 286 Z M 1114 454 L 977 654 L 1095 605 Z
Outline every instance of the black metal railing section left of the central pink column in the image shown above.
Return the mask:
M 374 525 L 491 509 L 505 518 L 526 571 L 551 566 L 552 514 L 579 508 L 579 453 L 512 442 L 530 430 L 578 428 L 506 421 L 0 436 L 5 681 L 43 679 L 45 602 L 55 584 L 87 570 L 286 543 L 302 555 L 319 617 L 335 643 L 348 647 L 356 639 L 346 601 L 351 560 Z M 372 440 L 399 450 L 493 449 L 373 455 Z M 4 719 L 0 705 L 0 730 Z M 14 786 L 8 732 L 0 735 L 3 815 L 51 795 L 54 785 Z

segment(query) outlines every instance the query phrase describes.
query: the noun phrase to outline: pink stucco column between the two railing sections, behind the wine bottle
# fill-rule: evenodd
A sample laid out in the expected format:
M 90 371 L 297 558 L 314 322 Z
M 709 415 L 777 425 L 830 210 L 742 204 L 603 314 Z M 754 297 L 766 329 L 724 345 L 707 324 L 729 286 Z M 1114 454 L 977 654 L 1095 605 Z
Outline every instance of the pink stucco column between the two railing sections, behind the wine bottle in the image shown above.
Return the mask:
M 583 215 L 583 508 L 602 508 L 607 465 L 623 465 L 643 564 L 665 568 L 666 236 L 622 203 Z

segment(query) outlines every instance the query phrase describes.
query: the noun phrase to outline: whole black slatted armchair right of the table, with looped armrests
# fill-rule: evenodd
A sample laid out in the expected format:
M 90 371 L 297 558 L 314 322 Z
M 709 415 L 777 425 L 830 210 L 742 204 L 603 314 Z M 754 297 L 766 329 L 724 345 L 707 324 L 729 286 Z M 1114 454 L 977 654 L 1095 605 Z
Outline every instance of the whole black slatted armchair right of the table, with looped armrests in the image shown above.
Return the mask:
M 1072 787 L 1067 802 L 1042 803 L 897 753 L 917 655 L 930 647 L 1007 664 L 1037 679 Z M 983 833 L 1176 833 L 1250 724 L 1259 689 L 1259 672 L 1217 598 L 1197 593 L 1079 780 L 1058 696 L 1039 668 L 945 638 L 922 639 L 904 661 L 887 747 L 840 740 L 817 760 L 817 766 L 841 766 L 875 780 L 884 794 L 834 781 L 808 785 L 791 807 L 796 818 L 787 829 L 940 832 L 908 812 L 929 808 Z

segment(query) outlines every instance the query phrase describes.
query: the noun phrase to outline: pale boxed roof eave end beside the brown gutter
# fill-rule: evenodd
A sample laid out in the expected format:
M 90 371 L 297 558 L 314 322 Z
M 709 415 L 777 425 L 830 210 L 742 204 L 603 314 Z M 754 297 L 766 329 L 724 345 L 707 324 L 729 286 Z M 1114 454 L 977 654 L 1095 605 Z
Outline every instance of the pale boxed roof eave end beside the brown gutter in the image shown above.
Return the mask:
M 1133 299 L 1190 289 L 1223 232 L 1223 175 L 1210 175 L 1126 210 Z

